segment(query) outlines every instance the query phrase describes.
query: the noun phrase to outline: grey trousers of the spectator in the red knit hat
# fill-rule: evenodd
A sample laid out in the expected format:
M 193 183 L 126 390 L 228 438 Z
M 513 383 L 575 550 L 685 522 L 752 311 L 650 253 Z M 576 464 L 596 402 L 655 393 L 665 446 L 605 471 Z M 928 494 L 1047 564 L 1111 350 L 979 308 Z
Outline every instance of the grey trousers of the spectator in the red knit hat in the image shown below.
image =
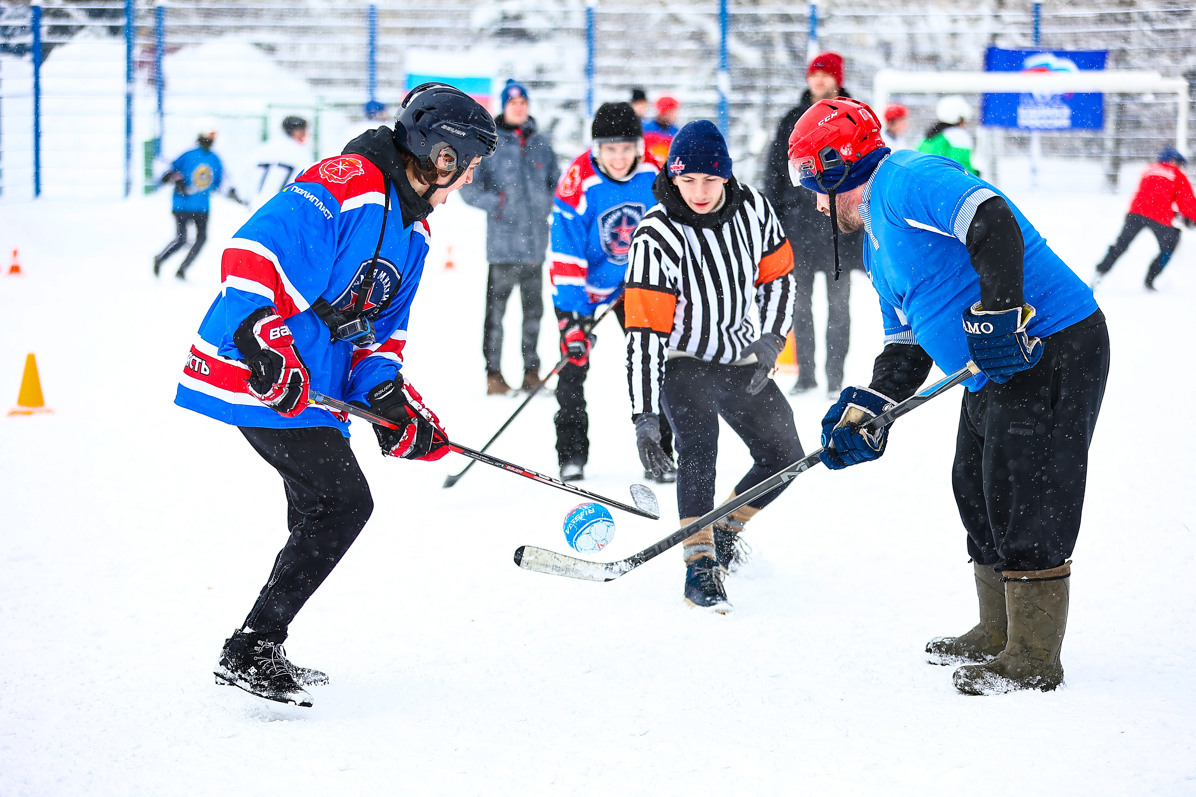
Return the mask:
M 798 384 L 813 387 L 814 379 L 814 274 L 819 269 L 799 265 L 793 269 L 797 288 L 793 306 L 793 343 L 798 351 Z M 824 272 L 825 274 L 825 272 Z M 843 386 L 843 363 L 852 342 L 852 271 L 826 274 L 826 386 Z

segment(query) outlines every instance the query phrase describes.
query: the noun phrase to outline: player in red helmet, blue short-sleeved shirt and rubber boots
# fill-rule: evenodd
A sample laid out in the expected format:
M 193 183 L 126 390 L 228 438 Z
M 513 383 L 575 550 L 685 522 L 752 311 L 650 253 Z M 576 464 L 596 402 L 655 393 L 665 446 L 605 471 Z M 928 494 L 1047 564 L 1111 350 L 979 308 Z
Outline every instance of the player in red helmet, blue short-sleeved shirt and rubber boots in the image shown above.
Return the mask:
M 1109 374 L 1105 317 L 1087 286 L 1000 191 L 959 164 L 889 154 L 875 115 L 850 99 L 813 105 L 789 137 L 791 177 L 844 232 L 865 229 L 885 348 L 872 384 L 823 418 L 831 468 L 880 456 L 866 421 L 915 393 L 936 363 L 969 360 L 952 483 L 968 531 L 980 624 L 932 639 L 968 694 L 1054 689 L 1063 681 L 1072 548 L 1088 445 Z

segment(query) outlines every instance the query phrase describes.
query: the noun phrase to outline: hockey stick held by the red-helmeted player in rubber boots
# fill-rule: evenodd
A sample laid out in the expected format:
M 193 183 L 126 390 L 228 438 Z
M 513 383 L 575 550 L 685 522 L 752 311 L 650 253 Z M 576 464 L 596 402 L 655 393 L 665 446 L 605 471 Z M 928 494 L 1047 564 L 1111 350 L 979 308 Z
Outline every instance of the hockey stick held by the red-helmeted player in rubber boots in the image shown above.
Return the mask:
M 926 390 L 920 391 L 904 401 L 901 401 L 885 412 L 881 412 L 865 424 L 865 429 L 868 431 L 878 431 L 907 412 L 926 404 L 936 396 L 946 393 L 956 385 L 968 381 L 978 373 L 980 368 L 977 368 L 975 363 L 969 362 L 950 376 L 944 376 Z M 588 562 L 586 559 L 578 559 L 576 557 L 570 557 L 565 553 L 545 551 L 544 548 L 538 548 L 533 545 L 520 545 L 515 548 L 515 564 L 524 570 L 547 572 L 553 576 L 581 578 L 585 581 L 614 581 L 615 578 L 635 570 L 648 559 L 664 553 L 682 540 L 692 537 L 710 523 L 715 523 L 734 510 L 746 507 L 765 492 L 775 490 L 786 482 L 808 471 L 811 467 L 822 461 L 818 459 L 818 454 L 823 450 L 823 448 L 819 448 L 812 454 L 806 455 L 780 473 L 768 477 L 759 484 L 745 490 L 740 495 L 737 495 L 731 501 L 719 504 L 694 522 L 679 528 L 655 545 L 648 546 L 635 556 L 630 556 L 626 559 L 620 559 L 618 562 Z

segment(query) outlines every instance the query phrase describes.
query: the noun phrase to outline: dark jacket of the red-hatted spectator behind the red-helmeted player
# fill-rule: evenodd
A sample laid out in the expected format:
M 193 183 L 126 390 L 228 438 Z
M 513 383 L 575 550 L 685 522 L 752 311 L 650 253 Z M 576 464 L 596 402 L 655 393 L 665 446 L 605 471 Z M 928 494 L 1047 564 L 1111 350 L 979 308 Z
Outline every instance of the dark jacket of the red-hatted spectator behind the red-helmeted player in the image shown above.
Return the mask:
M 840 88 L 840 97 L 850 97 Z M 801 115 L 813 105 L 807 88 L 801 102 L 781 119 L 776 139 L 768 152 L 764 168 L 764 196 L 781 215 L 785 234 L 793 246 L 794 270 L 835 271 L 835 251 L 831 241 L 830 219 L 818 213 L 818 201 L 813 191 L 789 182 L 789 134 Z M 843 269 L 864 268 L 864 231 L 852 234 L 840 233 L 838 259 Z

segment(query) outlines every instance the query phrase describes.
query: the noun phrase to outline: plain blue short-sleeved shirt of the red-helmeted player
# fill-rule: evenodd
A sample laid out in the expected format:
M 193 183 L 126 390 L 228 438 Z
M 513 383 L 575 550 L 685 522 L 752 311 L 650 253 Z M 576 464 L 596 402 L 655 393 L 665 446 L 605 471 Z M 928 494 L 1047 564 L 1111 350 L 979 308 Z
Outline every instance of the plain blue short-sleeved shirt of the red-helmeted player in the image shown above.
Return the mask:
M 945 373 L 969 360 L 963 313 L 980 301 L 965 241 L 982 202 L 1005 197 L 1025 243 L 1024 294 L 1037 311 L 1032 336 L 1046 337 L 1097 312 L 1092 290 L 995 186 L 947 158 L 895 152 L 865 184 L 864 264 L 880 295 L 885 343 L 916 343 Z M 981 390 L 988 378 L 965 382 Z

